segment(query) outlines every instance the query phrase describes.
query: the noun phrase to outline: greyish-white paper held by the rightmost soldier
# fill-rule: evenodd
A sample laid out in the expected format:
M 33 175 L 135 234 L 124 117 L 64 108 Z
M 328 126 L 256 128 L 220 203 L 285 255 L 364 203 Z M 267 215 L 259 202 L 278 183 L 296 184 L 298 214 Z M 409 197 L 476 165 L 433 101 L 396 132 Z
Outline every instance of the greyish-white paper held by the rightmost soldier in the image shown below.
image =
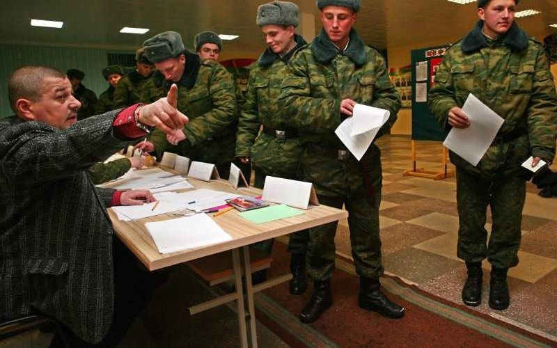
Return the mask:
M 468 116 L 470 126 L 450 129 L 443 145 L 477 166 L 505 120 L 471 93 L 462 111 Z

